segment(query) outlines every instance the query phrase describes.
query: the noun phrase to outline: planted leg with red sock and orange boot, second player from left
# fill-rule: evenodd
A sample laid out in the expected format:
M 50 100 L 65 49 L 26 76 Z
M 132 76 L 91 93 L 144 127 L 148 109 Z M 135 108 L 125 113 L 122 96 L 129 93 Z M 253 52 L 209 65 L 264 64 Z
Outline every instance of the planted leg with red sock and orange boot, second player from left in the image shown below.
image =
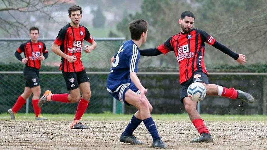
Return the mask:
M 90 82 L 83 82 L 79 84 L 82 97 L 79 97 L 79 104 L 76 109 L 76 113 L 73 119 L 73 122 L 70 125 L 70 128 L 83 128 L 83 129 L 89 129 L 89 127 L 81 124 L 79 120 L 82 118 L 84 112 L 86 111 L 86 108 L 88 107 L 88 103 L 90 102 L 91 98 L 91 89 L 90 89 Z M 79 127 L 77 127 L 79 124 Z

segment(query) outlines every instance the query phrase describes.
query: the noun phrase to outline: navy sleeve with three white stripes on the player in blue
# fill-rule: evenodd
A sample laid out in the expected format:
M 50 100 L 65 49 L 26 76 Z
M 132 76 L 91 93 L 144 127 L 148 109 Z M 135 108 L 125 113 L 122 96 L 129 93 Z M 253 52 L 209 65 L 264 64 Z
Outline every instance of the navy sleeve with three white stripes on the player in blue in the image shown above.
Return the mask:
M 129 58 L 130 72 L 137 72 L 139 57 L 138 57 L 137 46 L 135 44 L 133 45 L 133 51 L 128 58 Z

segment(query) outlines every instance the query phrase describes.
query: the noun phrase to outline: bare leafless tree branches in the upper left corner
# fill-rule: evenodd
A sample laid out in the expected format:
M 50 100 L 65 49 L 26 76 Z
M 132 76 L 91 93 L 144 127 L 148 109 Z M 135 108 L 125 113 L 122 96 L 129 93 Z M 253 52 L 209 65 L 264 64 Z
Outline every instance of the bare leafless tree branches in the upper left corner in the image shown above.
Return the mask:
M 52 15 L 56 6 L 69 2 L 70 0 L 1 0 L 0 4 L 0 29 L 10 37 L 20 37 L 22 33 L 29 33 L 30 17 L 26 13 L 40 13 L 49 20 L 57 22 Z

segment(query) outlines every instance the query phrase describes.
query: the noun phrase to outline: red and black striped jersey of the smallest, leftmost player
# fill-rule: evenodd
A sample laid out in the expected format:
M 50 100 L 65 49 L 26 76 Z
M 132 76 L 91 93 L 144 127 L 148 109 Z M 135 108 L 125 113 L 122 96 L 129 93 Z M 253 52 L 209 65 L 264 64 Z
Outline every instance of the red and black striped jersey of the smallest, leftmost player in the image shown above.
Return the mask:
M 20 45 L 19 48 L 17 48 L 17 52 L 19 54 L 24 52 L 25 58 L 28 58 L 28 62 L 26 63 L 27 66 L 40 69 L 41 61 L 38 59 L 38 57 L 41 56 L 42 53 L 48 53 L 48 50 L 45 43 L 40 41 L 33 43 L 30 40 Z

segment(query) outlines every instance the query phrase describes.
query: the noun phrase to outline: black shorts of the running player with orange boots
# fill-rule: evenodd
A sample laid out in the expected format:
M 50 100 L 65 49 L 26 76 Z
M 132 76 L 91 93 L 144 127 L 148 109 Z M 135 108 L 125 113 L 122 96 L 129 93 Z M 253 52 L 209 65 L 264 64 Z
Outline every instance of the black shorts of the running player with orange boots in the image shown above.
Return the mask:
M 80 83 L 90 82 L 85 70 L 80 72 L 62 72 L 62 74 L 68 91 L 79 88 Z

